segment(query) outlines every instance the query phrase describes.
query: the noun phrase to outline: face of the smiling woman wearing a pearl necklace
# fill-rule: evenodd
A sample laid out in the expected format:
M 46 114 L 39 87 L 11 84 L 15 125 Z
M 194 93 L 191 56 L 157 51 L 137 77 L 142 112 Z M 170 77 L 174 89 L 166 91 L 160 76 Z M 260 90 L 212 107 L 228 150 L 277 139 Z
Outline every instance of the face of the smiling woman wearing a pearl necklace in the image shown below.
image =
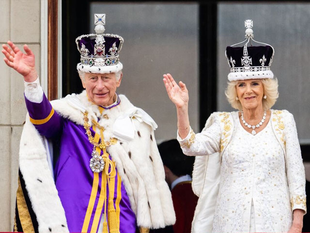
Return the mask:
M 240 80 L 237 82 L 236 89 L 243 109 L 263 107 L 263 83 L 261 80 Z

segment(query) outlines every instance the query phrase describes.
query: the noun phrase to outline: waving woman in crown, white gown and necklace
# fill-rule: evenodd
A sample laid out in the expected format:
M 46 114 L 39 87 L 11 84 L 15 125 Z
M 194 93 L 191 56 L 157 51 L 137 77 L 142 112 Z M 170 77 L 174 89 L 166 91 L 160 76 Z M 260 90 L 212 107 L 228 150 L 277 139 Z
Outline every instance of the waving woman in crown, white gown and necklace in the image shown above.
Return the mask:
M 192 232 L 301 233 L 305 172 L 294 117 L 271 109 L 279 96 L 270 70 L 274 49 L 249 46 L 252 21 L 245 25 L 245 45 L 226 49 L 231 72 L 225 94 L 238 111 L 213 113 L 194 133 L 185 83 L 164 75 L 177 108 L 177 139 L 186 155 L 196 156 L 193 189 L 200 198 Z

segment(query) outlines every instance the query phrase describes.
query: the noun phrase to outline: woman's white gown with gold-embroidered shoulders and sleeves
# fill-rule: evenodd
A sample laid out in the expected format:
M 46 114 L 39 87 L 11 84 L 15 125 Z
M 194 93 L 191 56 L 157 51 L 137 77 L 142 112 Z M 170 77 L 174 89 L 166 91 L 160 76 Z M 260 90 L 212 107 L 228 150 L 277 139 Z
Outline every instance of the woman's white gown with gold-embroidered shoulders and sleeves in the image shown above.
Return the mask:
M 231 133 L 230 137 L 225 137 L 225 131 L 221 130 L 223 122 L 225 127 L 229 125 L 224 129 Z M 276 133 L 283 137 L 284 150 Z M 215 113 L 212 124 L 202 133 L 190 131 L 186 138 L 177 139 L 186 155 L 198 158 L 215 152 L 221 155 L 212 233 L 284 233 L 292 225 L 293 210 L 306 211 L 305 172 L 294 117 L 286 110 L 271 110 L 266 127 L 256 135 L 248 133 L 238 113 L 232 112 Z M 202 172 L 203 169 L 206 168 L 202 166 Z M 200 201 L 198 205 L 203 226 L 203 212 L 209 215 L 210 209 Z

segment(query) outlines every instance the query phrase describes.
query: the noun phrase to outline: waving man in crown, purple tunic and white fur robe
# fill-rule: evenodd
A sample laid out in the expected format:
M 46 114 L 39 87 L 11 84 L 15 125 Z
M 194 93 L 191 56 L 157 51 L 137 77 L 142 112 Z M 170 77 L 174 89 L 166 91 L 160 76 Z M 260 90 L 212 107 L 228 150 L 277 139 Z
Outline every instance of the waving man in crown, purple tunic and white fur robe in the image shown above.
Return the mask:
M 17 232 L 147 233 L 175 222 L 171 193 L 158 153 L 155 121 L 116 93 L 123 78 L 123 38 L 76 39 L 85 90 L 48 101 L 34 55 L 8 41 L 4 61 L 24 78 L 28 110 L 20 143 Z M 50 153 L 47 139 L 59 151 Z M 54 151 L 55 152 L 55 151 Z

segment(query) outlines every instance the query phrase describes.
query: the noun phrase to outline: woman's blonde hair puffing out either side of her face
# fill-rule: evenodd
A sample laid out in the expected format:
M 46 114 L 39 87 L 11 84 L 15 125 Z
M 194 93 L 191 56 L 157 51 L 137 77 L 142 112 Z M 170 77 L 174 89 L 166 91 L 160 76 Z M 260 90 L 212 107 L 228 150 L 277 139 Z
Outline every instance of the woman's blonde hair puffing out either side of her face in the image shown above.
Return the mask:
M 263 109 L 269 110 L 277 101 L 279 97 L 278 92 L 278 79 L 275 77 L 273 79 L 262 79 L 263 83 L 263 95 L 267 98 L 263 99 Z M 239 100 L 236 100 L 237 97 L 237 85 L 238 81 L 228 82 L 228 86 L 225 90 L 225 95 L 227 97 L 228 102 L 232 105 L 233 108 L 242 110 L 242 105 Z

